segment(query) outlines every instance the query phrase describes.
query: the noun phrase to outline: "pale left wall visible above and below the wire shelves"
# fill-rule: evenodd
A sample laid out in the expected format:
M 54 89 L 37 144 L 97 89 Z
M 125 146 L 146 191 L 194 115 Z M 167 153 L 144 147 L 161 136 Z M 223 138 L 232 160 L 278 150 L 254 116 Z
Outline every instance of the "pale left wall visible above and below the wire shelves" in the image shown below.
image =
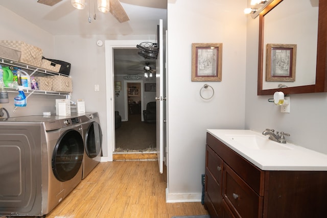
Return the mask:
M 42 49 L 45 57 L 55 58 L 54 37 L 51 34 L 41 30 L 3 6 L 0 6 L 0 19 L 3 20 L 0 24 L 0 40 L 25 41 Z M 10 116 L 41 115 L 43 111 L 55 113 L 55 99 L 62 98 L 58 95 L 32 94 L 27 99 L 27 106 L 17 108 L 14 113 L 13 109 L 15 106 L 13 99 L 17 94 L 18 92 L 9 92 L 9 103 L 0 104 L 0 107 L 8 110 Z

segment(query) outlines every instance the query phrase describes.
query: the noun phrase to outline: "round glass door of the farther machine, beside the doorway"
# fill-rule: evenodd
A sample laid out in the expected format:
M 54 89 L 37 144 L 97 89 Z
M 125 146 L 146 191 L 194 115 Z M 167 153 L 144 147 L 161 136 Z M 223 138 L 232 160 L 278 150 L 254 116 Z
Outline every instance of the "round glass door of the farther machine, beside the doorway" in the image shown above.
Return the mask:
M 101 153 L 102 131 L 100 124 L 92 122 L 85 134 L 85 152 L 89 158 L 95 158 Z

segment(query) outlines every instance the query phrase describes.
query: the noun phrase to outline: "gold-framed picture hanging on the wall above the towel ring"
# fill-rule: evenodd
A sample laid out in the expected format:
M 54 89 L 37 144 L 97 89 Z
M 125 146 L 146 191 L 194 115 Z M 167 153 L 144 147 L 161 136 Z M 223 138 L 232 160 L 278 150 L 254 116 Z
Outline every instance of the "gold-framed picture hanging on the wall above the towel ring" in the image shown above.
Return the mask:
M 221 81 L 222 43 L 192 43 L 192 81 Z

